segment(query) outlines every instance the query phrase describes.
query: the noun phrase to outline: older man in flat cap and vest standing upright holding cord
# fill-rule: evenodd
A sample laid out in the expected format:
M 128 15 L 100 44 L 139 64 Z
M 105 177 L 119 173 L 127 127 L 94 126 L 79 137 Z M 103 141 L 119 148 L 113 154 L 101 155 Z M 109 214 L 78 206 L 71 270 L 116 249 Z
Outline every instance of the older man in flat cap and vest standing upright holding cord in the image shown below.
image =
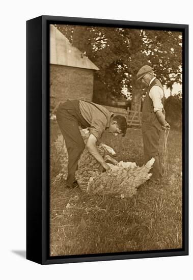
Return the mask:
M 165 120 L 164 92 L 161 82 L 154 76 L 149 65 L 143 66 L 136 74 L 137 80 L 147 87 L 142 109 L 142 132 L 144 142 L 144 158 L 147 162 L 152 157 L 155 162 L 152 168 L 151 181 L 160 183 L 162 164 L 159 154 L 161 130 L 170 128 Z

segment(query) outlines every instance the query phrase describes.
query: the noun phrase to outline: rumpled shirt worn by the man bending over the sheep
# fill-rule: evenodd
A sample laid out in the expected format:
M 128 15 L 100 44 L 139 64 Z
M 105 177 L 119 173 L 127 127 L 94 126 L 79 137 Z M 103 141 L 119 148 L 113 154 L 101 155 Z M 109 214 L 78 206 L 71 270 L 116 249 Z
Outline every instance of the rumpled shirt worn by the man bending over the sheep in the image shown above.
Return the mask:
M 106 108 L 99 104 L 79 100 L 80 113 L 82 117 L 91 125 L 90 134 L 93 134 L 97 139 L 102 136 L 102 133 L 109 127 L 113 113 L 110 113 Z

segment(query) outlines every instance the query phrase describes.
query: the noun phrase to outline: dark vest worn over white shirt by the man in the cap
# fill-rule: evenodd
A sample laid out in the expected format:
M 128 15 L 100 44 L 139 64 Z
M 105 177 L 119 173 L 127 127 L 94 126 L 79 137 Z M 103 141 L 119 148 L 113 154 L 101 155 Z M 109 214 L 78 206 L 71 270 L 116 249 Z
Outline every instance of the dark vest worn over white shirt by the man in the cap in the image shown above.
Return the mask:
M 161 125 L 160 125 L 159 121 L 157 120 L 156 114 L 153 110 L 154 109 L 153 101 L 149 96 L 149 92 L 153 86 L 158 86 L 163 90 L 161 82 L 155 78 L 151 82 L 150 86 L 148 87 L 148 89 L 146 91 L 146 97 L 145 97 L 143 109 L 142 109 L 142 130 L 144 130 L 144 131 L 147 130 L 150 126 L 155 126 L 161 130 Z M 163 92 L 163 98 L 161 101 L 162 101 L 162 104 L 164 107 L 164 92 Z M 164 114 L 164 109 L 163 109 L 162 113 Z

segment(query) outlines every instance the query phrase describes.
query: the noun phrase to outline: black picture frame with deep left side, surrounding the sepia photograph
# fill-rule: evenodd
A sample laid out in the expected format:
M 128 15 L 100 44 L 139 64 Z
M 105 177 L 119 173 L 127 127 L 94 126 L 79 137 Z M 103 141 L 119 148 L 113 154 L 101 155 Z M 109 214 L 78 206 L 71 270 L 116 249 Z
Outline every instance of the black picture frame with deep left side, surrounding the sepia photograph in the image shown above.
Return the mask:
M 65 257 L 49 256 L 49 24 L 104 25 L 183 33 L 183 246 Z M 188 25 L 40 16 L 26 22 L 26 259 L 59 264 L 188 255 Z

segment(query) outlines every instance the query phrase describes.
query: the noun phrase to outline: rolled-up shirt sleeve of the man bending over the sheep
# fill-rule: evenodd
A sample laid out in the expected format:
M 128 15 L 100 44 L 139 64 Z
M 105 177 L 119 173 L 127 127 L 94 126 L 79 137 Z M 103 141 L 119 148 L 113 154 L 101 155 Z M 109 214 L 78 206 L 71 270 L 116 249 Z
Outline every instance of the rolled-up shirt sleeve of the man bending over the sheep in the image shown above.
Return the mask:
M 99 139 L 102 136 L 102 133 L 104 132 L 107 125 L 107 120 L 105 116 L 101 117 L 100 119 L 93 119 L 91 122 L 91 130 L 90 134 L 93 134 L 97 139 Z

